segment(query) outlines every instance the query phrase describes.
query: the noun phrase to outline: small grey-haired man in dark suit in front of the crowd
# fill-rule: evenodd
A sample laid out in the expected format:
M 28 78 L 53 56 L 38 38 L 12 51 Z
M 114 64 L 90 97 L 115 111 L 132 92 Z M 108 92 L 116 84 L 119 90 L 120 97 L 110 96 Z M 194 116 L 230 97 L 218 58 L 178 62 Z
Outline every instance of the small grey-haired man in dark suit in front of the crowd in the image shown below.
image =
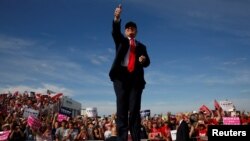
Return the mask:
M 176 133 L 176 141 L 190 141 L 189 138 L 189 127 L 187 122 L 184 120 L 182 113 L 178 113 L 176 115 L 177 120 L 177 133 Z

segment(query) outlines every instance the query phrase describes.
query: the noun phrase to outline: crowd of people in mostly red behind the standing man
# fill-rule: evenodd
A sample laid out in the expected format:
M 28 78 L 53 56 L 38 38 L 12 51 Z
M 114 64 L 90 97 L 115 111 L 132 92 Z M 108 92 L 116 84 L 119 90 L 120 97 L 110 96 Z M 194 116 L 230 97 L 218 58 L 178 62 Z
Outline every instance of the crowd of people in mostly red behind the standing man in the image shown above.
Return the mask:
M 0 94 L 0 141 L 85 141 L 115 140 L 116 115 L 88 117 L 79 115 L 58 120 L 60 98 L 49 95 Z M 30 126 L 26 108 L 39 111 L 39 127 Z M 191 141 L 207 140 L 208 125 L 221 125 L 223 117 L 231 116 L 221 109 L 178 113 L 189 127 Z M 250 124 L 250 113 L 239 112 L 241 125 Z M 141 139 L 173 141 L 171 132 L 178 128 L 177 114 L 151 115 L 141 118 Z M 129 133 L 128 133 L 129 134 Z

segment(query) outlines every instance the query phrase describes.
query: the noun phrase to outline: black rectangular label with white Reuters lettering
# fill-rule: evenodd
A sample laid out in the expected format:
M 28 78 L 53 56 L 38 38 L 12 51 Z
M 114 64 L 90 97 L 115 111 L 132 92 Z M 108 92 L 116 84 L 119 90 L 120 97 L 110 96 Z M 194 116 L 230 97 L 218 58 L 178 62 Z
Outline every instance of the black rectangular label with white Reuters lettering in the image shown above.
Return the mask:
M 250 125 L 208 125 L 209 141 L 250 141 Z

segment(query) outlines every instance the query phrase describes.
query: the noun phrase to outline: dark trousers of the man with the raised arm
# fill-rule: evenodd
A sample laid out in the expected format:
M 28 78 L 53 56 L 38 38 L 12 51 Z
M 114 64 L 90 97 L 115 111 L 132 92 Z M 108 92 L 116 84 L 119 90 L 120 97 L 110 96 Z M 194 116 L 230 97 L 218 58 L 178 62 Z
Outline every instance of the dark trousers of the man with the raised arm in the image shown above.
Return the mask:
M 132 75 L 126 72 L 124 74 L 122 80 L 113 81 L 116 94 L 118 141 L 127 141 L 128 131 L 133 141 L 140 141 L 140 109 L 143 89 L 136 87 Z

